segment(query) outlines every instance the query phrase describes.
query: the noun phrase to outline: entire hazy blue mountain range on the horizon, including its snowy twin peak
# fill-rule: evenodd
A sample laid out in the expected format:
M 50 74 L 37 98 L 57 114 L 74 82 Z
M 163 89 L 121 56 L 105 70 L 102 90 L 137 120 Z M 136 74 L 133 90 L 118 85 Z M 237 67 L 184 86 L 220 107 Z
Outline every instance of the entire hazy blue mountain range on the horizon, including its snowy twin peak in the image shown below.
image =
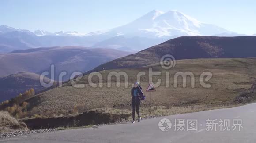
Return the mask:
M 179 11 L 153 10 L 140 18 L 113 29 L 90 33 L 30 32 L 0 26 L 0 52 L 51 46 L 86 46 L 119 50 L 143 50 L 178 36 L 244 36 L 217 25 L 207 24 Z

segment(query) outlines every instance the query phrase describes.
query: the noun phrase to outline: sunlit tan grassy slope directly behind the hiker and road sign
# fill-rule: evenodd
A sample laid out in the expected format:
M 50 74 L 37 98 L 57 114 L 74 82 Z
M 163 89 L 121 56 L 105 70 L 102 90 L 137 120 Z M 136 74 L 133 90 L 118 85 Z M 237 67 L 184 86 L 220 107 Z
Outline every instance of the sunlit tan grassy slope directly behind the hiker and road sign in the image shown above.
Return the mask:
M 161 65 L 153 64 L 140 68 L 125 68 L 114 71 L 123 71 L 128 74 L 129 87 L 125 88 L 124 83 L 120 87 L 115 86 L 116 79 L 112 79 L 111 88 L 107 87 L 107 78 L 109 72 L 113 70 L 101 71 L 103 75 L 103 87 L 93 88 L 88 84 L 88 75 L 83 76 L 77 84 L 84 84 L 84 88 L 75 88 L 70 82 L 64 84 L 64 87 L 54 88 L 44 93 L 32 97 L 26 102 L 29 103 L 28 111 L 36 110 L 38 113 L 48 112 L 49 114 L 61 114 L 72 112 L 74 107 L 78 106 L 82 110 L 90 110 L 102 107 L 129 108 L 131 103 L 130 89 L 133 82 L 136 81 L 138 72 L 145 71 L 148 74 L 148 68 L 153 71 L 161 71 L 162 75 L 154 76 L 153 82 L 160 78 L 162 84 L 156 87 L 156 92 L 152 93 L 152 103 L 156 106 L 173 105 L 207 105 L 207 104 L 225 104 L 232 102 L 242 92 L 248 91 L 255 81 L 256 58 L 243 59 L 192 59 L 178 60 L 175 68 L 164 70 Z M 190 79 L 186 88 L 182 87 L 182 79 L 178 78 L 178 87 L 173 87 L 173 77 L 176 72 L 192 72 L 195 75 L 195 88 L 191 88 Z M 199 83 L 199 76 L 202 72 L 208 71 L 213 77 L 207 83 L 211 88 L 203 88 Z M 169 87 L 166 88 L 165 73 L 169 72 Z M 149 104 L 149 93 L 145 92 L 148 85 L 148 75 L 143 75 L 141 85 L 146 93 L 147 99 L 143 101 L 142 106 Z M 124 78 L 120 78 L 124 82 Z M 93 77 L 93 82 L 98 83 L 97 76 Z

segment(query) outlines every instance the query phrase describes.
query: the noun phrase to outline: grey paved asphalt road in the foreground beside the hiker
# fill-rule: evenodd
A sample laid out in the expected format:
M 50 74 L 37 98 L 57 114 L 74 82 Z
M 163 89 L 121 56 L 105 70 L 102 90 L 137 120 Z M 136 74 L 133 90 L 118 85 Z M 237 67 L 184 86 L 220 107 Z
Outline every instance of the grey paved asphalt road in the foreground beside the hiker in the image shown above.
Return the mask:
M 168 118 L 172 122 L 169 131 L 161 131 L 158 122 Z M 175 131 L 175 119 L 185 121 L 185 131 Z M 184 119 L 184 120 L 183 120 Z M 197 119 L 198 129 L 187 131 L 187 120 Z M 214 120 L 217 131 L 207 131 L 207 119 Z M 230 121 L 230 131 L 220 131 L 220 119 Z M 232 131 L 233 121 L 242 120 L 243 128 Z M 217 122 L 218 121 L 218 122 Z M 238 123 L 239 124 L 239 123 Z M 167 125 L 167 124 L 163 124 Z M 176 123 L 176 129 L 179 125 Z M 180 126 L 182 127 L 182 125 Z M 189 126 L 192 127 L 192 126 Z M 215 126 L 214 126 L 215 127 Z M 223 127 L 224 128 L 224 127 Z M 222 130 L 223 130 L 222 128 Z M 180 128 L 181 129 L 181 128 Z M 209 129 L 209 128 L 208 128 Z M 256 104 L 229 109 L 201 111 L 143 120 L 140 123 L 124 123 L 100 126 L 97 129 L 71 129 L 5 139 L 3 143 L 255 143 Z

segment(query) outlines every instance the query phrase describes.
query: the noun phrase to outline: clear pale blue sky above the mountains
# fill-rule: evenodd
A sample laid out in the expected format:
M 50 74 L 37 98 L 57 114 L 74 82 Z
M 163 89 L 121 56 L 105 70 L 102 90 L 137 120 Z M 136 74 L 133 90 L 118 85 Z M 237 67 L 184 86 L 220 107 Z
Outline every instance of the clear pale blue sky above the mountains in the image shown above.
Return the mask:
M 0 0 L 0 25 L 92 32 L 127 24 L 154 9 L 177 10 L 230 31 L 256 33 L 256 0 Z

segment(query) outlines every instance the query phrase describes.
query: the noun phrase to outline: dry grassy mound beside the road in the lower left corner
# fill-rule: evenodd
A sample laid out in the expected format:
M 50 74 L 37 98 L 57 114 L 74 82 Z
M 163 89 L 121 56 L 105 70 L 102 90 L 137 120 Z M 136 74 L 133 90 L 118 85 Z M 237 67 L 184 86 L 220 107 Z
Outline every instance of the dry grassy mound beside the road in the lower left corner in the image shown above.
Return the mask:
M 0 132 L 11 130 L 27 130 L 26 124 L 19 122 L 8 112 L 0 111 Z

